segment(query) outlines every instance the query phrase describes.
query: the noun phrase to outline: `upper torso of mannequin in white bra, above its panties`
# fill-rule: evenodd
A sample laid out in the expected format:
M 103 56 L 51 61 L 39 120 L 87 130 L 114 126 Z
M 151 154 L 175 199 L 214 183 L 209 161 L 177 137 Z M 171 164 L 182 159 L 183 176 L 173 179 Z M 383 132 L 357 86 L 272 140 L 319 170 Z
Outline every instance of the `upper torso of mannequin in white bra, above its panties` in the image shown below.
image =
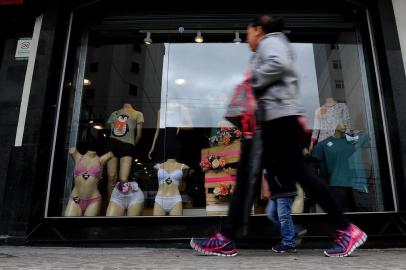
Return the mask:
M 157 195 L 165 197 L 180 195 L 179 186 L 182 183 L 185 171 L 189 167 L 177 162 L 175 159 L 168 159 L 164 163 L 155 165 L 154 168 L 158 170 L 159 186 Z

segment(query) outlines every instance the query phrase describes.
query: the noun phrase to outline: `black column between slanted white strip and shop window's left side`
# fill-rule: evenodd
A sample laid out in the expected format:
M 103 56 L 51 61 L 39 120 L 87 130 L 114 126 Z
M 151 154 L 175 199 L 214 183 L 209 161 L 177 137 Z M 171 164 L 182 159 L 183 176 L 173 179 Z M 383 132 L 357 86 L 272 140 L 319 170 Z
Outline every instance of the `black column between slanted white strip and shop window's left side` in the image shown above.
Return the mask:
M 13 147 L 6 180 L 2 219 L 9 239 L 24 243 L 42 220 L 57 93 L 69 12 L 60 1 L 48 1 L 43 13 L 31 84 L 23 144 Z

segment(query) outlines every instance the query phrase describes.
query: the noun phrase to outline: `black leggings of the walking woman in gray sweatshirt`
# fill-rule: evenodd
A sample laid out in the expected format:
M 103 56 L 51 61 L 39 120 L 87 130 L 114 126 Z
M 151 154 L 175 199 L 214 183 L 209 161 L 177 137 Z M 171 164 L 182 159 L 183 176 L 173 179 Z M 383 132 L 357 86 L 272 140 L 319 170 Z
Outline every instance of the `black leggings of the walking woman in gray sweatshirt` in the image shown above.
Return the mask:
M 287 116 L 275 120 L 265 121 L 262 124 L 263 162 L 272 164 L 274 175 L 279 181 L 286 182 L 297 179 L 303 189 L 310 193 L 316 202 L 327 212 L 336 229 L 343 230 L 349 221 L 343 215 L 339 204 L 331 195 L 325 181 L 317 177 L 306 163 L 302 153 L 303 128 L 297 116 Z M 246 157 L 247 156 L 247 157 Z M 244 158 L 246 157 L 246 160 Z M 249 155 L 241 152 L 240 168 L 249 166 Z M 243 169 L 243 172 L 248 171 Z M 237 188 L 233 196 L 228 219 L 221 232 L 227 237 L 235 239 L 237 230 L 242 224 L 244 208 L 244 189 L 247 185 L 247 175 L 238 175 Z M 240 185 L 240 188 L 239 188 Z

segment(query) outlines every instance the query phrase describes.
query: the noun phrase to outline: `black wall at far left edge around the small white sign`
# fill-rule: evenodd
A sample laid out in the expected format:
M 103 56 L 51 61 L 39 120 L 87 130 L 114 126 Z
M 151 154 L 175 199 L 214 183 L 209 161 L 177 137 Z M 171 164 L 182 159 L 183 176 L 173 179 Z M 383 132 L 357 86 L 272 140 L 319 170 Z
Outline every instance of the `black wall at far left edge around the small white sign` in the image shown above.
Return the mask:
M 41 0 L 35 8 L 32 4 L 28 0 L 23 5 L 0 6 L 0 235 L 7 234 L 8 219 L 1 218 L 1 213 L 8 211 L 6 180 L 28 62 L 17 60 L 15 52 L 18 39 L 32 35 L 35 17 L 41 13 Z

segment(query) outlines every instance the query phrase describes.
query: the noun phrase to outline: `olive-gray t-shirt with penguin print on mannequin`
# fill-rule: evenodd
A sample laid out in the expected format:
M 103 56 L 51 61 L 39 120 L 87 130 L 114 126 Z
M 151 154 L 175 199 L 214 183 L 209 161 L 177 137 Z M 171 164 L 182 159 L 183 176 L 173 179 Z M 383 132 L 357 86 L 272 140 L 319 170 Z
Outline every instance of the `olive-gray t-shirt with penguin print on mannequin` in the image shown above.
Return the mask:
M 112 138 L 135 144 L 135 130 L 137 125 L 144 123 L 144 115 L 139 111 L 118 110 L 110 115 L 107 123 L 110 124 Z

